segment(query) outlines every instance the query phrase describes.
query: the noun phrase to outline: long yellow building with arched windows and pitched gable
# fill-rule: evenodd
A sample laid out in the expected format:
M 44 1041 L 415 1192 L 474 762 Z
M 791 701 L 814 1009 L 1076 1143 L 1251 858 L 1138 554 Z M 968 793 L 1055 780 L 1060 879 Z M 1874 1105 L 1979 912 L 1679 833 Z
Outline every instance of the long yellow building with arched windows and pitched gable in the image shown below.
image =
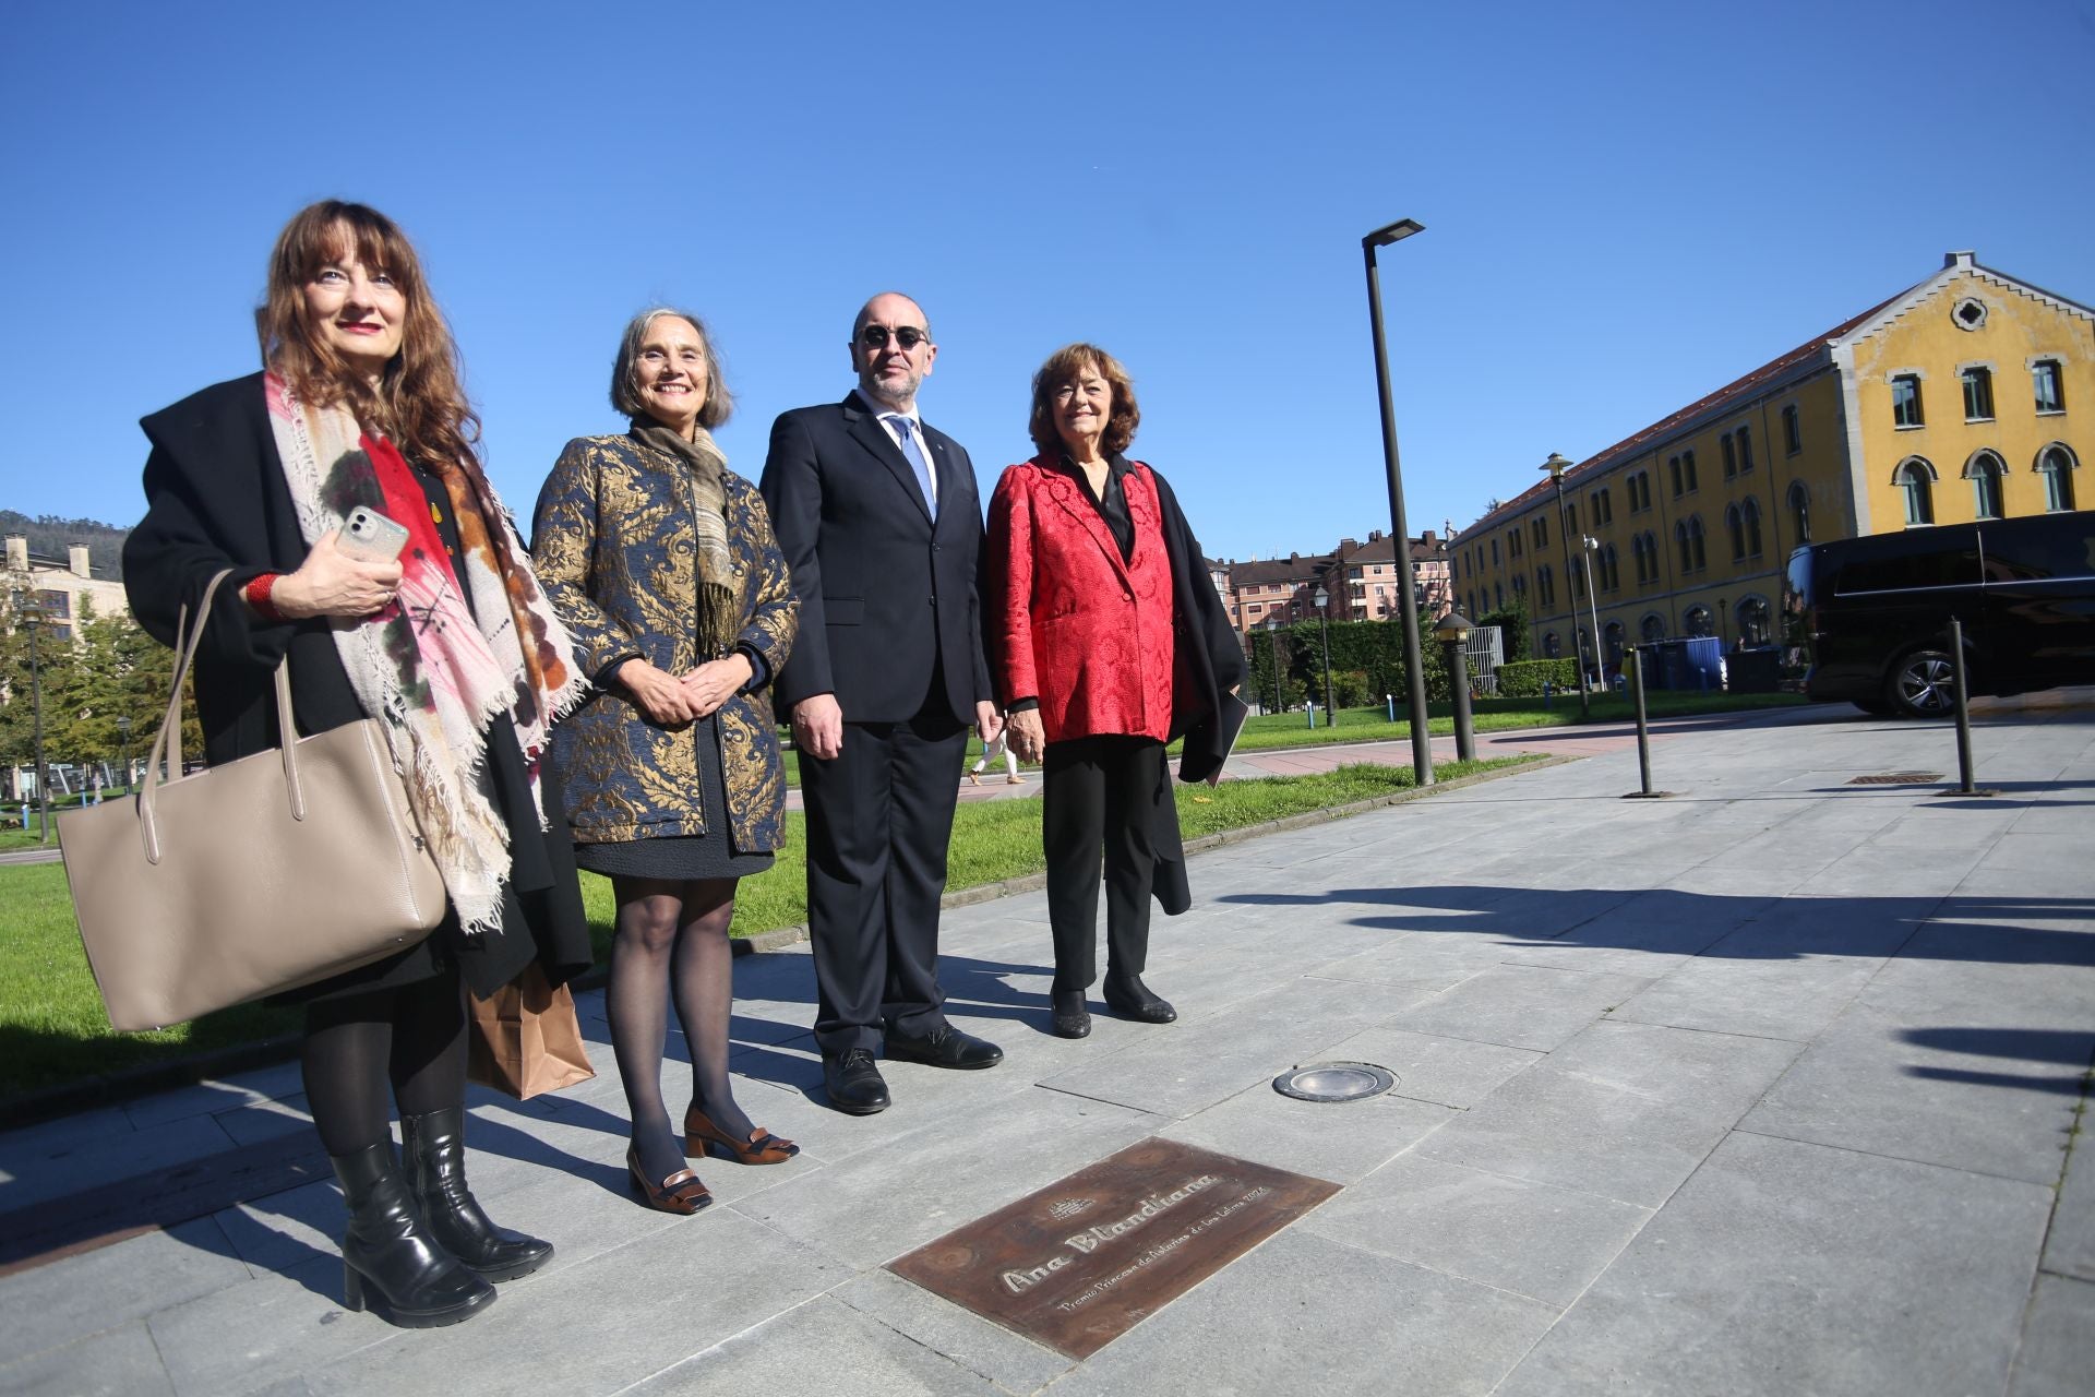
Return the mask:
M 1598 630 L 1611 672 L 1640 641 L 1756 645 L 1804 542 L 2095 505 L 2091 423 L 2095 310 L 1957 251 L 1464 528 L 1456 605 L 1521 597 L 1534 653 Z

